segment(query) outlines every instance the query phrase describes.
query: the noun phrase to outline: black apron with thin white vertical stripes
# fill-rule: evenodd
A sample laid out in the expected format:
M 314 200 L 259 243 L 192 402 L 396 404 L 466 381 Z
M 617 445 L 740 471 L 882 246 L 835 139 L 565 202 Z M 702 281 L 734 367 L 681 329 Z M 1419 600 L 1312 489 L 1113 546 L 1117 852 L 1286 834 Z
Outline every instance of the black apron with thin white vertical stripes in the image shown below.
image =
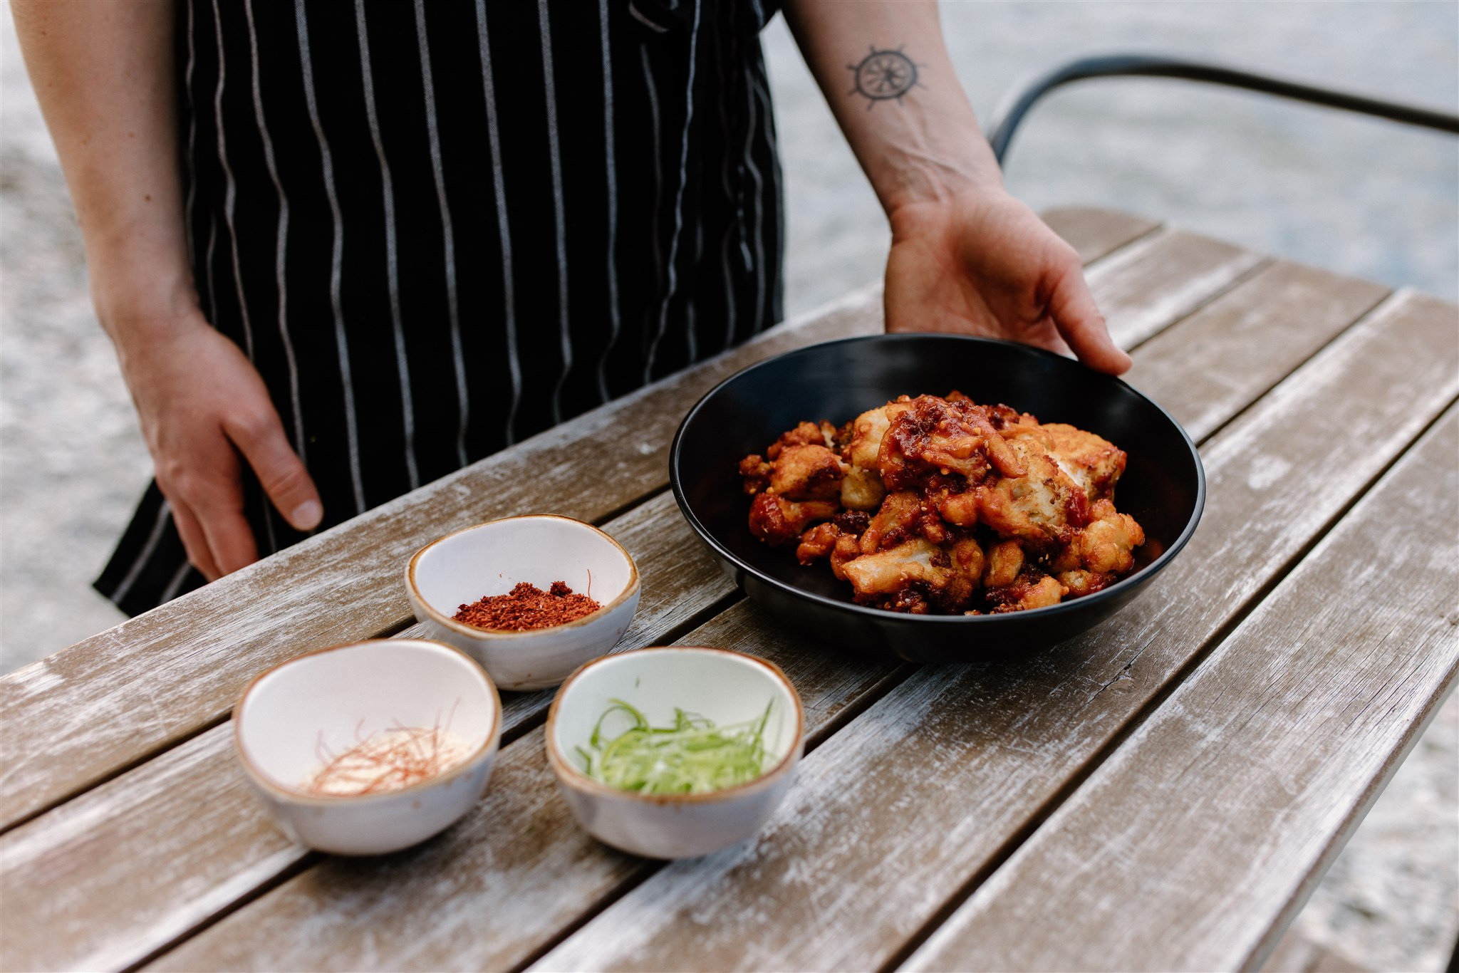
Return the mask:
M 754 0 L 182 0 L 203 312 L 331 527 L 781 318 Z M 257 481 L 260 554 L 301 540 Z M 203 584 L 153 483 L 96 588 Z

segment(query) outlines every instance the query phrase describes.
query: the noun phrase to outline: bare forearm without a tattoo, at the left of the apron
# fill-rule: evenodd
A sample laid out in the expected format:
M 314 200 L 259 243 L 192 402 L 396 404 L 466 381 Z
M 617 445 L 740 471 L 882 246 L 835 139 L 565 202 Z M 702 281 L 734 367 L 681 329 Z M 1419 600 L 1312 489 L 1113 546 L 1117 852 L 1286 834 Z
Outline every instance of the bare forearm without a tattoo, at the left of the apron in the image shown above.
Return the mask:
M 124 353 L 196 305 L 172 0 L 13 0 L 12 9 L 80 222 L 96 312 Z

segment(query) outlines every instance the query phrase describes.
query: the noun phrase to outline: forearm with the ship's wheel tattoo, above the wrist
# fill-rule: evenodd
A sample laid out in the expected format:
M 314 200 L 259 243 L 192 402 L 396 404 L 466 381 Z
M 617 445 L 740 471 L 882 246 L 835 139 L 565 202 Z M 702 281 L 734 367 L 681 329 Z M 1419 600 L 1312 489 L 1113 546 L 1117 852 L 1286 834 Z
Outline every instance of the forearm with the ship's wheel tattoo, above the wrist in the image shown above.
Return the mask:
M 786 0 L 785 19 L 889 213 L 1002 187 L 935 3 Z

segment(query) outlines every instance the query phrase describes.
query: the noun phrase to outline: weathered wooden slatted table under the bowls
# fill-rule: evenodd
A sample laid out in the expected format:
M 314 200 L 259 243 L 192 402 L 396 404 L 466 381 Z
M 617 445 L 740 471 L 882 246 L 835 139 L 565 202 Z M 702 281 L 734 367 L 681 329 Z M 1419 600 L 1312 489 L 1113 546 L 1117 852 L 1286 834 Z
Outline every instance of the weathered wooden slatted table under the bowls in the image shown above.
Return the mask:
M 1210 477 L 1189 547 L 1115 619 L 918 668 L 794 635 L 713 565 L 665 490 L 676 426 L 754 360 L 877 331 L 868 287 L 4 677 L 0 964 L 1259 966 L 1459 674 L 1459 308 L 1119 213 L 1048 219 Z M 633 553 L 620 649 L 789 674 L 808 737 L 779 813 L 697 861 L 614 852 L 556 794 L 552 693 L 518 693 L 442 836 L 290 843 L 233 756 L 242 687 L 413 635 L 406 559 L 524 512 Z

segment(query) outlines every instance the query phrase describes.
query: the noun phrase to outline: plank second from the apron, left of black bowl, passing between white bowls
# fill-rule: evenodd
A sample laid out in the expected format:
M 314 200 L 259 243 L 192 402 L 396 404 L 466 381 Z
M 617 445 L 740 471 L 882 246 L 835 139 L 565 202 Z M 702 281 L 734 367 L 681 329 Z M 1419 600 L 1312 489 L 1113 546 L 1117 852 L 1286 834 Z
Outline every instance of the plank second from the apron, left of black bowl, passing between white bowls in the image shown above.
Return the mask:
M 620 651 L 661 642 L 734 592 L 668 493 L 604 528 L 643 573 Z M 540 719 L 552 693 L 503 693 L 502 702 L 511 732 Z M 137 963 L 305 853 L 255 802 L 233 757 L 232 725 L 216 726 L 0 836 L 0 966 Z

